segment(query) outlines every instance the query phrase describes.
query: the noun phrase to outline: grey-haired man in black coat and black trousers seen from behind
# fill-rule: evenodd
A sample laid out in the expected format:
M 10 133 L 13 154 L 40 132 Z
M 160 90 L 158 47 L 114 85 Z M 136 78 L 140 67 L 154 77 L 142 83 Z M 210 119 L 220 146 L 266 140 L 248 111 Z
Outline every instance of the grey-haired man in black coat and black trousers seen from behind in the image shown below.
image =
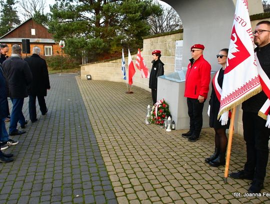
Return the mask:
M 30 120 L 35 122 L 37 121 L 35 99 L 37 97 L 41 114 L 45 115 L 48 109 L 44 96 L 47 95 L 47 89 L 50 89 L 50 86 L 46 61 L 39 57 L 40 48 L 33 47 L 32 53 L 31 57 L 24 60 L 28 63 L 33 76 L 29 94 L 29 116 Z

